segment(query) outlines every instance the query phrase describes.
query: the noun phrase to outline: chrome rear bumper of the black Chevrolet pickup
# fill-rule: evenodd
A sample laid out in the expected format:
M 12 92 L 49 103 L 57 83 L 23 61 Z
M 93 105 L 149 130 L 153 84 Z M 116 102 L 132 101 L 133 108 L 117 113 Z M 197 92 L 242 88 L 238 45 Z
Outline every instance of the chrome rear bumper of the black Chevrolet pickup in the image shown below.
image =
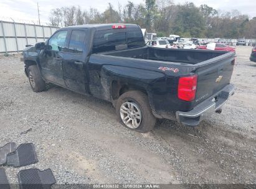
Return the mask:
M 219 93 L 198 104 L 194 109 L 187 112 L 176 111 L 176 119 L 187 126 L 197 126 L 202 119 L 205 119 L 219 110 L 234 94 L 235 87 L 232 84 L 225 86 Z M 217 97 L 217 100 L 216 100 Z

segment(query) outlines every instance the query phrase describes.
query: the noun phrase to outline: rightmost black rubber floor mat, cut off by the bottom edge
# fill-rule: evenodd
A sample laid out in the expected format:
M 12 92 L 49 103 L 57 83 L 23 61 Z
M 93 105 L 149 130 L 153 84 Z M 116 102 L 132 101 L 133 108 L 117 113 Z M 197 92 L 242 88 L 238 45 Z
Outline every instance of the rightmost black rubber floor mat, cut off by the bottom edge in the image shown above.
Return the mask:
M 19 187 L 21 189 L 49 189 L 56 183 L 52 170 L 42 170 L 30 168 L 21 170 L 18 173 Z

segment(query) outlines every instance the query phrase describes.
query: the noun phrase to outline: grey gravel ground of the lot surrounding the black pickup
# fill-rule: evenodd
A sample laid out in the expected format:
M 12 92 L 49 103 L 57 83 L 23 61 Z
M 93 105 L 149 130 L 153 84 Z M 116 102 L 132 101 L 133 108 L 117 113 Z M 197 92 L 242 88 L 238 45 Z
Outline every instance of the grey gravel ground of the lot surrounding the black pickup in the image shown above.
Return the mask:
M 235 94 L 197 127 L 159 120 L 148 134 L 117 121 L 110 103 L 57 86 L 34 93 L 20 55 L 0 56 L 0 145 L 33 142 L 57 183 L 256 183 L 256 63 L 237 47 Z M 21 134 L 27 131 L 27 134 Z

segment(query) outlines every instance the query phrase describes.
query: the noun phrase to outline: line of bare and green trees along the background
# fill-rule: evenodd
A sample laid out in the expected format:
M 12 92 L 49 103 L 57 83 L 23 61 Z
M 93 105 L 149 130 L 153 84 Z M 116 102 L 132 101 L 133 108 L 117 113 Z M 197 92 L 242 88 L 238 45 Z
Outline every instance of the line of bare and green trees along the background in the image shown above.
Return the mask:
M 256 17 L 241 14 L 237 10 L 217 11 L 193 2 L 174 4 L 171 0 L 145 0 L 143 4 L 128 1 L 125 6 L 116 7 L 108 3 L 105 11 L 80 6 L 52 9 L 50 25 L 66 27 L 81 24 L 130 23 L 139 24 L 147 32 L 156 32 L 158 37 L 170 34 L 182 37 L 225 39 L 256 38 Z

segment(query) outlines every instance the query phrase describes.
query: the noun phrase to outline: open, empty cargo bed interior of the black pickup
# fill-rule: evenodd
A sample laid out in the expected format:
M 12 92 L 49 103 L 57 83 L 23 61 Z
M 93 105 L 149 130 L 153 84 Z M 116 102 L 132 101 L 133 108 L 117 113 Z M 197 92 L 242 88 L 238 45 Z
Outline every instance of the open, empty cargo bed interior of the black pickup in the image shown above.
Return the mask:
M 157 60 L 163 62 L 178 62 L 186 64 L 196 64 L 204 62 L 211 58 L 224 55 L 225 51 L 214 50 L 190 50 L 190 49 L 174 49 L 174 48 L 155 48 L 140 47 L 128 50 L 120 50 L 115 52 L 105 52 L 103 55 L 111 55 L 115 57 L 139 58 L 145 60 Z

